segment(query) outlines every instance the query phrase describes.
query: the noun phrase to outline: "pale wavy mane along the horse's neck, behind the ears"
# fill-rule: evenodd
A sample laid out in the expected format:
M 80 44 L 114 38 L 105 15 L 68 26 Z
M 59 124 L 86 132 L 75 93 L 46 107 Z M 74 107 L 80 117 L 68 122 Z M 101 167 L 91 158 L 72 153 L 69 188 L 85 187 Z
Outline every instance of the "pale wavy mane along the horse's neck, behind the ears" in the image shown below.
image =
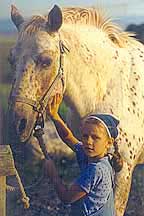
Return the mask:
M 125 47 L 133 33 L 123 31 L 116 23 L 112 22 L 110 17 L 96 8 L 64 8 L 63 9 L 64 23 L 85 24 L 96 26 L 106 32 L 113 43 L 119 47 Z M 132 39 L 132 38 L 131 38 Z

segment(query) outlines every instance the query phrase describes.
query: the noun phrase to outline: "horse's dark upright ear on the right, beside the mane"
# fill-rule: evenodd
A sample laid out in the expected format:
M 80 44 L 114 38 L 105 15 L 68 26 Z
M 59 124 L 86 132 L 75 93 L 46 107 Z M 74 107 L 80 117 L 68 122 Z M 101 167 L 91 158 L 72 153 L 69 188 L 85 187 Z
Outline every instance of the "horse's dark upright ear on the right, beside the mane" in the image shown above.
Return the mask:
M 48 14 L 47 30 L 50 32 L 56 32 L 62 25 L 62 11 L 55 5 Z

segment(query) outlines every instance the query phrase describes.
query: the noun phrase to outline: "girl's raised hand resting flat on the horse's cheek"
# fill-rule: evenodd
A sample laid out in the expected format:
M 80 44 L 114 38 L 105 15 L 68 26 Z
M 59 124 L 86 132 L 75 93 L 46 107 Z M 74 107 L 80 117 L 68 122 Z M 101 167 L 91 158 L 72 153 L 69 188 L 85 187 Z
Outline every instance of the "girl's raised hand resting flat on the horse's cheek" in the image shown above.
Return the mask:
M 56 116 L 58 115 L 58 110 L 61 102 L 62 102 L 62 95 L 58 93 L 49 99 L 47 105 L 47 112 L 51 118 L 55 119 Z

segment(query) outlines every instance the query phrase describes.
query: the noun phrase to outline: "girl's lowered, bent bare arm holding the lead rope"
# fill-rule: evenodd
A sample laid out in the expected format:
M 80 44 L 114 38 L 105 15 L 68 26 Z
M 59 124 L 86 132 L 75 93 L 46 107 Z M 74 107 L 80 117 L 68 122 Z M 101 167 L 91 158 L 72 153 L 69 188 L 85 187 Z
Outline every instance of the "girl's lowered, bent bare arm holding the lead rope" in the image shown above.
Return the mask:
M 86 192 L 76 184 L 72 184 L 69 189 L 66 188 L 57 173 L 54 162 L 51 159 L 45 160 L 45 170 L 61 201 L 65 203 L 72 203 L 86 195 Z

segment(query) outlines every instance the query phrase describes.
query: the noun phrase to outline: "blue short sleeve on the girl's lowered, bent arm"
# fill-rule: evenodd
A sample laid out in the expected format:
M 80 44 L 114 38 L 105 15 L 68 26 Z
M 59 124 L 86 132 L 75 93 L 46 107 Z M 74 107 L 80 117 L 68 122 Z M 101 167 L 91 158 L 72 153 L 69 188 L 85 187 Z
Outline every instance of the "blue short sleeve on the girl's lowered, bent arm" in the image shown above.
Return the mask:
M 90 164 L 76 179 L 75 184 L 79 185 L 86 193 L 89 193 L 93 186 L 96 186 L 101 179 L 101 169 Z

